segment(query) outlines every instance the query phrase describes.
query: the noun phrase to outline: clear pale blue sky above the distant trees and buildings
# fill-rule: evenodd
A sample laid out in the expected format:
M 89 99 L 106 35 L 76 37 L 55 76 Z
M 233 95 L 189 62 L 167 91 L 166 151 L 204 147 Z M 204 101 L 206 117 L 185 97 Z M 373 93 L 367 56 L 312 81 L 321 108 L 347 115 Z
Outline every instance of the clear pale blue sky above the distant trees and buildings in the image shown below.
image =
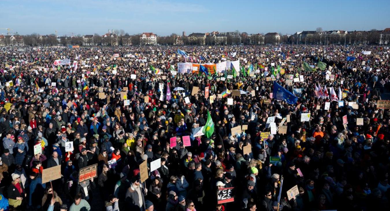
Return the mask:
M 189 2 L 189 3 L 186 3 Z M 0 0 L 0 28 L 19 34 L 247 33 L 382 30 L 390 0 Z M 0 34 L 6 34 L 0 30 Z

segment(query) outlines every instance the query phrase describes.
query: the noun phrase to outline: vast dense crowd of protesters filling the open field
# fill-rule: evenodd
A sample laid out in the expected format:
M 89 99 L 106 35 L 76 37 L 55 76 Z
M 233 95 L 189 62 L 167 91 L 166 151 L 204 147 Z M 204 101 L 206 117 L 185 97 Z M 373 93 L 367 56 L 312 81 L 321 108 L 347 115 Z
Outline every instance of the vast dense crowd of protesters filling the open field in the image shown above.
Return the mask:
M 390 84 L 388 47 L 177 50 L 0 49 L 0 211 L 389 206 L 390 113 L 377 108 Z M 190 60 L 240 67 L 175 72 Z M 275 82 L 296 103 L 277 98 Z M 79 181 L 94 164 L 96 177 Z M 43 182 L 57 166 L 60 179 Z M 222 188 L 233 188 L 233 202 L 218 203 Z

